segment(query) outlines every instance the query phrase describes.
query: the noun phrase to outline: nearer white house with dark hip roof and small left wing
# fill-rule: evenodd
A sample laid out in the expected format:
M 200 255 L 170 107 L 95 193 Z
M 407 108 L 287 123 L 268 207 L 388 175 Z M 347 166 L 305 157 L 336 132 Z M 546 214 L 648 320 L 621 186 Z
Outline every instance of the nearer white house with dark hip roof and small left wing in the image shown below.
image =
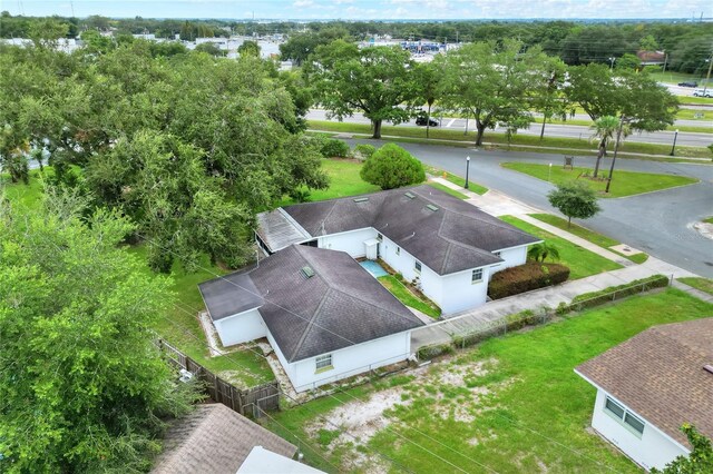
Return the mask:
M 292 245 L 198 287 L 223 345 L 266 337 L 297 392 L 406 361 L 423 325 L 343 251 Z

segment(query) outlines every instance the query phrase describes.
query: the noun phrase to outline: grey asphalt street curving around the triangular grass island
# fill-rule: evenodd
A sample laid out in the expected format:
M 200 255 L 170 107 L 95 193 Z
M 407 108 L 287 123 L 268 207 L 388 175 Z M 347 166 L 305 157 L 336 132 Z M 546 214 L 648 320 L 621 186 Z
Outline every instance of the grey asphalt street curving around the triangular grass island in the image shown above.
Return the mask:
M 349 140 L 352 142 L 355 140 Z M 373 140 L 358 140 L 372 142 Z M 515 151 L 484 151 L 448 146 L 401 144 L 432 166 L 461 177 L 465 157 L 470 155 L 470 179 L 500 190 L 530 206 L 554 211 L 547 201 L 548 182 L 500 167 L 506 161 L 561 164 L 561 155 Z M 594 167 L 594 158 L 576 157 L 578 166 Z M 611 161 L 605 158 L 603 167 Z M 635 159 L 617 160 L 617 169 L 690 176 L 701 182 L 676 189 L 618 199 L 600 199 L 603 211 L 585 224 L 664 261 L 713 278 L 713 240 L 690 228 L 694 221 L 713 215 L 713 165 L 666 164 Z M 615 179 L 616 179 L 616 171 Z M 616 180 L 612 186 L 616 186 Z

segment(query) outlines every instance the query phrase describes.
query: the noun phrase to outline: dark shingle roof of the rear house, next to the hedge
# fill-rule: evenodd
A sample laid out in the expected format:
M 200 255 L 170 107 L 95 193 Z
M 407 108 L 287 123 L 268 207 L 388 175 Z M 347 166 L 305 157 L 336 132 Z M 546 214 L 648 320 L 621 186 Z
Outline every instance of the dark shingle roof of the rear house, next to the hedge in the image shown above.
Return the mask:
M 439 275 L 497 264 L 502 260 L 492 251 L 539 241 L 426 185 L 297 204 L 285 207 L 284 213 L 312 237 L 373 227 Z M 258 235 L 268 237 L 270 231 L 262 227 Z M 273 251 L 279 249 L 271 247 Z

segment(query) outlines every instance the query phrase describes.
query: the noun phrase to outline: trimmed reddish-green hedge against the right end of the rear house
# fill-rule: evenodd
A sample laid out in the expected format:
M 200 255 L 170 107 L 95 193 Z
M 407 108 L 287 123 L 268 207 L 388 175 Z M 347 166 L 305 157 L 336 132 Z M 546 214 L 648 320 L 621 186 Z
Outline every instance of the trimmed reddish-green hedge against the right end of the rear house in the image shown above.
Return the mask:
M 492 299 L 500 299 L 557 285 L 566 282 L 567 278 L 569 278 L 569 268 L 564 265 L 530 260 L 525 265 L 507 268 L 495 274 L 488 285 L 488 296 Z

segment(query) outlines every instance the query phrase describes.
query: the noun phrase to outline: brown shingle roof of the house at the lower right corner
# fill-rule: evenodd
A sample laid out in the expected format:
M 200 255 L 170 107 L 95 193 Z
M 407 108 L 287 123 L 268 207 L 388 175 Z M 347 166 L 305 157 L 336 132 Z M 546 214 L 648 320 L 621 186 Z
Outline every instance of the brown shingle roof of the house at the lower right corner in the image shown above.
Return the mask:
M 684 446 L 684 423 L 713 437 L 713 317 L 646 329 L 577 373 Z

